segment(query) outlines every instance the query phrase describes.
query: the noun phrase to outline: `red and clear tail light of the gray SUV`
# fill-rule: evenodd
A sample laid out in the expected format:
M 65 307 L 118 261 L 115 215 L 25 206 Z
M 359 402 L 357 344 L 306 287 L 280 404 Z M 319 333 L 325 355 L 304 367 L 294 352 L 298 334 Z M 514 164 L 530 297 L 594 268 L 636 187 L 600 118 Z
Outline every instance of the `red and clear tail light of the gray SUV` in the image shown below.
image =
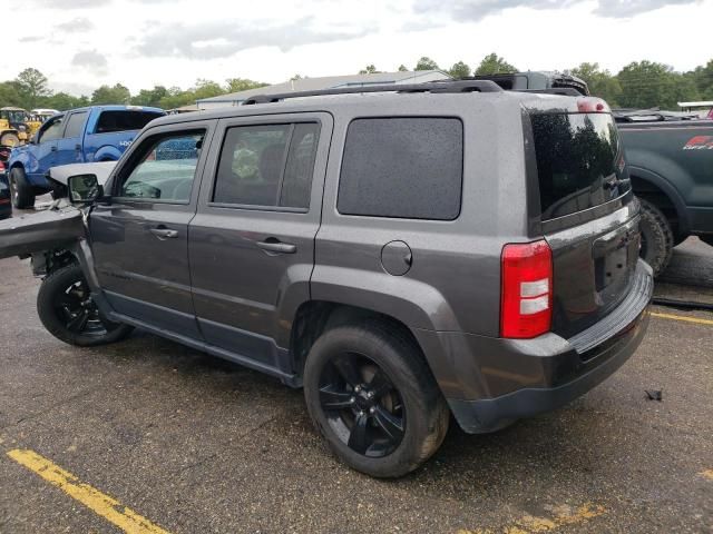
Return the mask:
M 553 253 L 547 241 L 506 245 L 500 264 L 500 336 L 527 339 L 549 332 Z

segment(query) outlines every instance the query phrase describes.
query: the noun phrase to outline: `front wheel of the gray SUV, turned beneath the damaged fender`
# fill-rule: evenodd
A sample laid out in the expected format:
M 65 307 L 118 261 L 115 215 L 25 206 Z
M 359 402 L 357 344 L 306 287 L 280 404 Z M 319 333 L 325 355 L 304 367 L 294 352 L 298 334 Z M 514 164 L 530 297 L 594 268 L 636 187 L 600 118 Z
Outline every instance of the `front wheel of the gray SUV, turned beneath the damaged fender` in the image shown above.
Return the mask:
M 118 342 L 133 329 L 101 317 L 78 264 L 67 265 L 45 278 L 37 295 L 37 310 L 52 336 L 79 347 Z

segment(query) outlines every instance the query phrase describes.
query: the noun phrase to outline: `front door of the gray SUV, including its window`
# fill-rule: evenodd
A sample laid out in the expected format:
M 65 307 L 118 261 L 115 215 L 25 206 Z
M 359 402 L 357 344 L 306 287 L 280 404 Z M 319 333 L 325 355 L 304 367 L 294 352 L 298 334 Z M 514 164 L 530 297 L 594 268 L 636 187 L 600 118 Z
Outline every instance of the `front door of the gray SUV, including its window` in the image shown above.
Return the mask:
M 191 296 L 188 222 L 196 212 L 211 121 L 145 130 L 89 218 L 97 276 L 114 309 L 199 338 Z M 173 149 L 172 147 L 180 147 Z

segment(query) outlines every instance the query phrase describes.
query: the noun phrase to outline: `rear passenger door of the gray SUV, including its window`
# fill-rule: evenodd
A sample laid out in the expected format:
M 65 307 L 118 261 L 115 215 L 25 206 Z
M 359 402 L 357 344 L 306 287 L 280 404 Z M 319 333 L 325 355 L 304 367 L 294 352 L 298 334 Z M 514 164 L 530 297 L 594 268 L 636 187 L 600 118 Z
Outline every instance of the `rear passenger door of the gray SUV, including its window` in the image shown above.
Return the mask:
M 316 112 L 218 122 L 189 227 L 193 298 L 205 340 L 248 365 L 287 370 L 331 131 L 331 116 Z

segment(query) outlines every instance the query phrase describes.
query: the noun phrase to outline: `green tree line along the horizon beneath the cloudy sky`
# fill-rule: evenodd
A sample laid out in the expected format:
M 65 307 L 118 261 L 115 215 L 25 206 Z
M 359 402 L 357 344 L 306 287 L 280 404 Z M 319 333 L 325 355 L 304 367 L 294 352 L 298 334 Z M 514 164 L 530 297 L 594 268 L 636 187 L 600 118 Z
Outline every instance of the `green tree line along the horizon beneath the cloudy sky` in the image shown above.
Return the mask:
M 398 70 L 411 69 L 400 65 Z M 424 56 L 418 60 L 413 70 L 442 70 L 453 78 L 519 71 L 516 66 L 496 53 L 489 53 L 473 67 L 465 61 L 457 61 L 450 68 L 441 68 L 436 61 Z M 360 71 L 360 73 L 375 72 L 380 71 L 373 63 Z M 705 66 L 699 66 L 687 72 L 678 72 L 673 67 L 649 60 L 633 61 L 617 73 L 600 68 L 596 62 L 584 62 L 563 72 L 582 78 L 589 86 L 592 95 L 604 98 L 614 108 L 676 109 L 676 102 L 680 101 L 713 100 L 713 59 Z M 301 78 L 303 78 L 301 75 L 295 75 L 292 79 Z M 127 87 L 116 83 L 98 87 L 91 96 L 76 97 L 64 91 L 51 91 L 47 77 L 37 69 L 28 68 L 16 79 L 0 82 L 0 107 L 67 110 L 89 105 L 133 103 L 173 109 L 195 103 L 203 98 L 266 85 L 247 78 L 228 78 L 223 83 L 198 79 L 188 89 L 154 86 L 152 89 L 141 89 L 136 95 L 131 95 Z

